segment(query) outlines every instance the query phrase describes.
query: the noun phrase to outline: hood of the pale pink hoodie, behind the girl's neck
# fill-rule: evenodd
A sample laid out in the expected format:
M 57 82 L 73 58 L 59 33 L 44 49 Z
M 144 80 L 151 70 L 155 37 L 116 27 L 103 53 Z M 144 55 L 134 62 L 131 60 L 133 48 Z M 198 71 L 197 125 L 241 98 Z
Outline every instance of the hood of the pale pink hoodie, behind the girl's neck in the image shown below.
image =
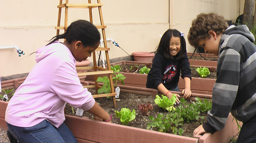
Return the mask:
M 66 47 L 65 45 L 63 45 L 59 42 L 56 42 L 56 43 L 47 45 L 45 47 L 41 47 L 36 50 L 36 54 L 35 54 L 36 63 L 38 63 L 42 59 L 45 59 L 47 56 L 52 55 L 53 53 L 55 53 L 57 51 L 58 51 L 58 54 L 63 53 L 65 55 L 67 55 L 67 53 L 71 53 L 71 51 L 69 50 L 68 47 Z

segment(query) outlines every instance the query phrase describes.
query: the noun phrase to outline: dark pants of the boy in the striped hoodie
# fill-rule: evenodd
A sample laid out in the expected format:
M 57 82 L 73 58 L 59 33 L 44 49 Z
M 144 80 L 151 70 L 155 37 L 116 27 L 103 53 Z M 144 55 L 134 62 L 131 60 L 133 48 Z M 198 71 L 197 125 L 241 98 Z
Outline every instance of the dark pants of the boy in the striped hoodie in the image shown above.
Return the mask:
M 237 143 L 256 142 L 256 121 L 243 123 Z

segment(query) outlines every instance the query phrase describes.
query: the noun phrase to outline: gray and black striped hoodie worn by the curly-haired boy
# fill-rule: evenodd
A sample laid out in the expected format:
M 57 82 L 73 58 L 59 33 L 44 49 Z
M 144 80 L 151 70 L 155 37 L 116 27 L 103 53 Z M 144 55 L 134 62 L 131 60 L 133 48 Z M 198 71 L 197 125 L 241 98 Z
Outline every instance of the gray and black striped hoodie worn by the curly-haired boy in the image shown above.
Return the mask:
M 229 112 L 239 121 L 256 116 L 256 46 L 246 25 L 231 25 L 220 40 L 217 80 L 206 132 L 224 128 Z

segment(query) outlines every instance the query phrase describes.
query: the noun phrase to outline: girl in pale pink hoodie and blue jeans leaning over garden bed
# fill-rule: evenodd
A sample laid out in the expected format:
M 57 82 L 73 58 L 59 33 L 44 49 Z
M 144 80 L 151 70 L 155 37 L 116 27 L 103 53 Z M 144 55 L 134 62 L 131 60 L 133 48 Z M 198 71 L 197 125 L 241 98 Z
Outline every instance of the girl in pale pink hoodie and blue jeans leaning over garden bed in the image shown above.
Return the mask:
M 76 61 L 86 60 L 99 46 L 97 28 L 77 20 L 52 39 L 36 51 L 37 64 L 6 109 L 8 130 L 18 142 L 77 142 L 63 123 L 66 103 L 112 123 L 109 113 L 82 87 L 75 67 Z

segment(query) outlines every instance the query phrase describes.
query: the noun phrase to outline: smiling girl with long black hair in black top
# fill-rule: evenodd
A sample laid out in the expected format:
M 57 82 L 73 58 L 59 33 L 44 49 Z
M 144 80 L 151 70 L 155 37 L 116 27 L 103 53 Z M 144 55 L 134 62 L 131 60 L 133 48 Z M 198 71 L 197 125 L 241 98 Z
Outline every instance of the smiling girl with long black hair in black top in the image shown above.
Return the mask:
M 191 69 L 186 54 L 186 41 L 184 34 L 178 30 L 167 30 L 156 49 L 152 68 L 147 75 L 146 87 L 157 89 L 172 98 L 171 91 L 179 91 L 178 82 L 181 77 L 185 82 L 185 89 L 182 90 L 184 97 L 190 97 Z M 179 102 L 178 94 L 177 103 Z

